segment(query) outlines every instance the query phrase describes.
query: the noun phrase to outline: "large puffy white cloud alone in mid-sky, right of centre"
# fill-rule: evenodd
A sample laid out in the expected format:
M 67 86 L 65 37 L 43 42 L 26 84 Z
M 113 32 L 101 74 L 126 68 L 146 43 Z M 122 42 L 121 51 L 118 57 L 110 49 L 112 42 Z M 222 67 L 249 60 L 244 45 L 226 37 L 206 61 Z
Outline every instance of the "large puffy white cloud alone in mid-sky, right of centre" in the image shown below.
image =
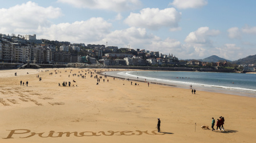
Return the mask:
M 164 10 L 159 9 L 143 9 L 140 13 L 133 13 L 124 20 L 131 27 L 143 27 L 157 30 L 161 27 L 177 28 L 181 19 L 181 12 L 174 8 Z

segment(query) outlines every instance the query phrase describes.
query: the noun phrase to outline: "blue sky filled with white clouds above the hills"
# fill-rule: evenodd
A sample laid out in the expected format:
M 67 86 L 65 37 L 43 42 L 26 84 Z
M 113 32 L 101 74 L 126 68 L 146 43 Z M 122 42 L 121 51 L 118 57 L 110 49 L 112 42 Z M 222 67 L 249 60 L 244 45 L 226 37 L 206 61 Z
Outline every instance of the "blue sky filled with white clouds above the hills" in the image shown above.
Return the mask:
M 254 0 L 0 0 L 0 33 L 238 60 L 256 54 Z

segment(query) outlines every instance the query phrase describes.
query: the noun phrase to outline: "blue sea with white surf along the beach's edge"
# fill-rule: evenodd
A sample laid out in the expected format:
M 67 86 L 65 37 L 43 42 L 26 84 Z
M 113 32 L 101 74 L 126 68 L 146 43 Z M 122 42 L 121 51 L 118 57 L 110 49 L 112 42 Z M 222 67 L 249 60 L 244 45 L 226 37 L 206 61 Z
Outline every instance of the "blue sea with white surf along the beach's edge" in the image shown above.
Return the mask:
M 166 71 L 115 71 L 104 72 L 113 77 L 129 78 L 136 83 L 149 82 L 182 89 L 221 92 L 256 98 L 256 74 L 213 72 L 166 72 Z

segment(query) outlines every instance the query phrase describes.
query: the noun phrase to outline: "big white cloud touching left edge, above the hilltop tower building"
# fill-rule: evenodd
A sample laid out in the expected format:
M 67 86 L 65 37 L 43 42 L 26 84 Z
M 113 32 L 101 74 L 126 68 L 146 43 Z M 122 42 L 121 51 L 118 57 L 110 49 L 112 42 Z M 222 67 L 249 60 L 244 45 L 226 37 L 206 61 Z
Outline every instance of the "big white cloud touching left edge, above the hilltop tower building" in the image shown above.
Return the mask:
M 34 2 L 23 3 L 9 9 L 0 9 L 0 30 L 3 33 L 30 33 L 38 26 L 51 26 L 50 19 L 62 16 L 59 8 L 40 7 Z M 4 28 L 3 28 L 4 27 Z

